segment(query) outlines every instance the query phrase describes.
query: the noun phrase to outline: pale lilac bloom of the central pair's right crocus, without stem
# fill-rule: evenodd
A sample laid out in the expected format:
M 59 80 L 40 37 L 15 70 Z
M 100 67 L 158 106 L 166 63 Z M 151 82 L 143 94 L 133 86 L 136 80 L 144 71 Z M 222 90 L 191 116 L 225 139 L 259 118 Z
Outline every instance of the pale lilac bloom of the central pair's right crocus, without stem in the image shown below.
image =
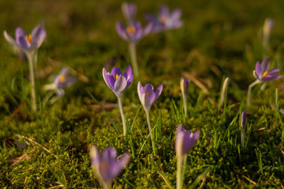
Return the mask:
M 139 99 L 146 112 L 148 112 L 151 108 L 151 105 L 158 99 L 160 93 L 162 93 L 163 85 L 160 84 L 157 90 L 154 91 L 154 87 L 152 84 L 146 84 L 145 86 L 142 86 L 141 82 L 139 81 L 137 90 Z

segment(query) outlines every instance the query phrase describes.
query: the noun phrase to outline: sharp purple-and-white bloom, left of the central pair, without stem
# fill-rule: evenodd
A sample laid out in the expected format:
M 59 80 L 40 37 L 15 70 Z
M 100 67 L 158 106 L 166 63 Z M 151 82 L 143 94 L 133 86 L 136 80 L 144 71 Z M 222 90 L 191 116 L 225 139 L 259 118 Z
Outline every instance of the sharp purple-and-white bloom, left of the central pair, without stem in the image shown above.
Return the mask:
M 114 91 L 116 96 L 121 96 L 122 92 L 129 87 L 133 81 L 133 73 L 131 67 L 128 66 L 122 74 L 121 70 L 118 67 L 111 69 L 111 73 L 107 72 L 107 69 L 102 70 L 102 76 L 104 76 L 104 81 L 107 86 Z

